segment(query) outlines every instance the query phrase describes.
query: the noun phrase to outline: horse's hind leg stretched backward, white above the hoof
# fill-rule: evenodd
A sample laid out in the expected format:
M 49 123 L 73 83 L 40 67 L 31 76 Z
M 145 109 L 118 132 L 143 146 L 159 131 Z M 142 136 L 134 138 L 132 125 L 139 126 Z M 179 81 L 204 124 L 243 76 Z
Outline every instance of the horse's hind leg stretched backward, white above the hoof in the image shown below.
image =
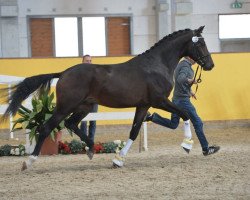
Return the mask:
M 33 162 L 37 159 L 37 156 L 40 153 L 42 144 L 49 136 L 49 134 L 54 130 L 59 123 L 67 116 L 68 114 L 59 114 L 56 110 L 54 111 L 52 117 L 41 127 L 39 127 L 39 136 L 38 141 L 36 143 L 35 149 L 31 156 L 29 156 L 28 161 L 23 162 L 22 171 L 29 168 Z

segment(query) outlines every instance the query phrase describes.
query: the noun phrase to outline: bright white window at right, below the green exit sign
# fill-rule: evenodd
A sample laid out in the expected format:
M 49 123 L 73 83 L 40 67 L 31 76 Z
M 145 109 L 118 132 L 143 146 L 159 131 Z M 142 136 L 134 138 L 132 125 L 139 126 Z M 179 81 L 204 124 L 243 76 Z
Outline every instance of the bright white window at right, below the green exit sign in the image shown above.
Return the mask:
M 219 15 L 220 39 L 250 39 L 250 14 Z

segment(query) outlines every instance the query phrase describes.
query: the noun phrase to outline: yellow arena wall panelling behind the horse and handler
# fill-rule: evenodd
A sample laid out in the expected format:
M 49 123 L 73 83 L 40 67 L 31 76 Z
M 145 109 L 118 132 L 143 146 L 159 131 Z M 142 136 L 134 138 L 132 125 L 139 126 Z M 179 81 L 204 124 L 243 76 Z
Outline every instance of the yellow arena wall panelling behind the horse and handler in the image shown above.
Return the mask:
M 192 100 L 204 121 L 250 119 L 250 53 L 227 53 L 212 55 L 215 67 L 212 71 L 202 71 L 197 100 Z M 93 57 L 95 64 L 115 64 L 132 57 Z M 0 59 L 0 74 L 28 77 L 38 74 L 61 72 L 81 58 L 17 58 Z M 154 67 L 154 66 L 152 66 Z M 196 69 L 196 66 L 193 66 Z M 194 86 L 195 87 L 195 86 Z M 195 90 L 195 88 L 193 88 Z M 171 98 L 171 97 L 170 97 Z M 131 111 L 100 106 L 99 112 Z M 150 109 L 150 112 L 156 111 Z M 157 110 L 161 115 L 170 114 Z M 99 121 L 98 124 L 130 124 L 131 121 Z M 4 127 L 1 125 L 0 128 Z

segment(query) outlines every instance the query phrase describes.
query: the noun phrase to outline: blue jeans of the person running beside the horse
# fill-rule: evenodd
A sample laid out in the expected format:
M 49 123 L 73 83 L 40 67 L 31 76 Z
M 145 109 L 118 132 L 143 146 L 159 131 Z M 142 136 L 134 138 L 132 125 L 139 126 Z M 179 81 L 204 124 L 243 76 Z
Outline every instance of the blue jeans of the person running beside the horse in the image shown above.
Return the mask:
M 208 142 L 206 139 L 206 136 L 204 135 L 203 132 L 203 123 L 200 119 L 200 117 L 198 116 L 195 107 L 193 106 L 193 104 L 190 102 L 189 98 L 185 98 L 185 99 L 178 99 L 178 100 L 173 100 L 173 103 L 179 107 L 180 109 L 183 109 L 185 112 L 187 112 L 187 114 L 190 117 L 190 120 L 194 126 L 195 129 L 195 133 L 200 141 L 202 150 L 205 151 L 208 149 Z M 167 118 L 163 118 L 160 115 L 158 115 L 157 113 L 153 114 L 152 117 L 152 122 L 171 128 L 171 129 L 176 129 L 179 125 L 180 122 L 180 117 L 177 114 L 172 114 L 171 115 L 171 120 L 167 119 Z

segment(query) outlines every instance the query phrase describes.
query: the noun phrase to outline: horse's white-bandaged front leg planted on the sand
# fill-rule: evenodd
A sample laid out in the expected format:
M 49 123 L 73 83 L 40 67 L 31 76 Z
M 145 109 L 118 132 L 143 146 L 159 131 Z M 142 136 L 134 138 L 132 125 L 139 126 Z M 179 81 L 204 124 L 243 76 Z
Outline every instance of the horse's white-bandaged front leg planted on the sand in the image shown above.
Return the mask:
M 132 129 L 130 131 L 129 139 L 126 142 L 126 145 L 122 148 L 119 154 L 116 154 L 115 158 L 113 159 L 113 165 L 122 167 L 124 165 L 124 159 L 127 155 L 130 147 L 132 146 L 133 142 L 137 138 L 142 122 L 147 114 L 149 107 L 137 107 L 135 112 L 135 117 L 132 125 Z

